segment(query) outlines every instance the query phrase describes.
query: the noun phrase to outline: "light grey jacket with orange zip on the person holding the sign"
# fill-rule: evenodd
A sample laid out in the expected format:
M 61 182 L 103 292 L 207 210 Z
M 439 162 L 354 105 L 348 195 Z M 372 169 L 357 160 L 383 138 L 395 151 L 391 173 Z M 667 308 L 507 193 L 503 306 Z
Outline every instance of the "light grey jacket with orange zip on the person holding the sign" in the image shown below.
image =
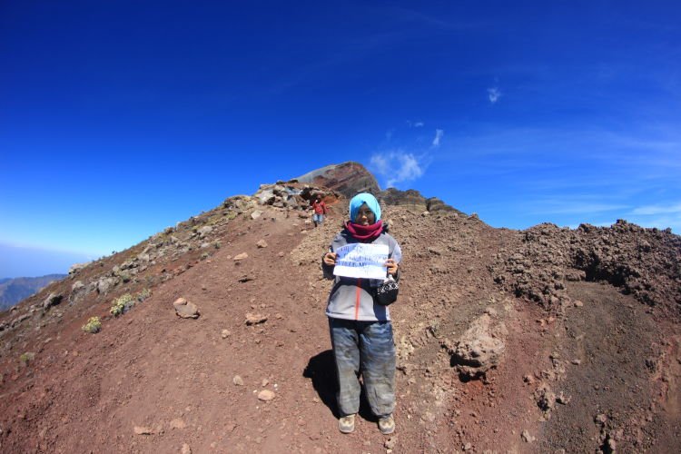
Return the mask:
M 353 237 L 350 232 L 343 229 L 341 233 L 331 242 L 330 252 L 336 252 L 338 248 L 353 242 L 360 242 Z M 380 236 L 371 244 L 387 244 L 388 257 L 400 262 L 402 252 L 400 244 L 395 241 L 390 234 L 380 233 Z M 333 279 L 333 288 L 329 294 L 329 301 L 326 307 L 326 315 L 331 319 L 359 320 L 359 321 L 390 321 L 390 311 L 388 306 L 381 306 L 374 302 L 374 290 L 382 283 L 375 279 L 355 279 L 333 275 L 333 267 L 321 262 L 321 270 L 324 277 Z M 400 271 L 395 276 L 395 280 L 400 280 Z

